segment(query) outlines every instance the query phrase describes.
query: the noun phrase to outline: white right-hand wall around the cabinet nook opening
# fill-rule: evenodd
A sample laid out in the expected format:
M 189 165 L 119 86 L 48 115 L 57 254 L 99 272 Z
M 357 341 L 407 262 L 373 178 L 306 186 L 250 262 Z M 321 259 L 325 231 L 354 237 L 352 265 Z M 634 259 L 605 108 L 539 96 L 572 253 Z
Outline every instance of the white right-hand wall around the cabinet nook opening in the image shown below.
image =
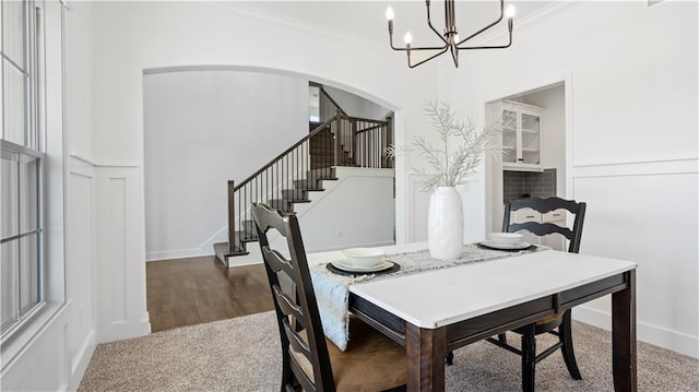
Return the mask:
M 545 17 L 516 23 L 510 49 L 466 54 L 470 72 L 445 64 L 440 75 L 441 95 L 478 111 L 498 97 L 571 81 L 566 194 L 588 202 L 580 251 L 638 262 L 639 338 L 695 357 L 697 7 L 554 4 Z M 473 204 L 485 210 L 477 197 Z M 573 313 L 608 326 L 609 312 L 600 300 Z

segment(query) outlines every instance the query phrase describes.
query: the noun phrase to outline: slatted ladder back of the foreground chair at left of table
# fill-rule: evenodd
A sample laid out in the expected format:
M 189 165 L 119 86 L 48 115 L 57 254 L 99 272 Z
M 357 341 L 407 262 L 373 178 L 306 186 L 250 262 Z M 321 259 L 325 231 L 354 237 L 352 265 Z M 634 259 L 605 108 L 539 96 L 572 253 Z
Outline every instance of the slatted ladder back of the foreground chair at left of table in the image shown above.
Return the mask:
M 280 329 L 284 367 L 282 390 L 294 389 L 298 381 L 305 391 L 334 391 L 328 346 L 296 215 L 253 203 L 252 217 Z M 270 229 L 275 229 L 285 239 L 291 259 L 271 248 Z M 283 282 L 291 282 L 292 288 Z M 291 354 L 292 349 L 311 364 L 312 379 L 303 371 L 304 365 Z

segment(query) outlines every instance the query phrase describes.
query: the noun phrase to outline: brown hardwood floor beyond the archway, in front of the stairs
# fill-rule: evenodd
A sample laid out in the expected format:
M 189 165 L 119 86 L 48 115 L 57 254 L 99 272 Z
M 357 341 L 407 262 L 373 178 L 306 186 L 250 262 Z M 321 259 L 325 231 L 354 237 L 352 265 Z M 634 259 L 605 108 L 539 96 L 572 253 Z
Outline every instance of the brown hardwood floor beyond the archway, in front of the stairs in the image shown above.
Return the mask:
M 146 262 L 151 331 L 274 309 L 262 264 L 227 269 L 211 257 Z

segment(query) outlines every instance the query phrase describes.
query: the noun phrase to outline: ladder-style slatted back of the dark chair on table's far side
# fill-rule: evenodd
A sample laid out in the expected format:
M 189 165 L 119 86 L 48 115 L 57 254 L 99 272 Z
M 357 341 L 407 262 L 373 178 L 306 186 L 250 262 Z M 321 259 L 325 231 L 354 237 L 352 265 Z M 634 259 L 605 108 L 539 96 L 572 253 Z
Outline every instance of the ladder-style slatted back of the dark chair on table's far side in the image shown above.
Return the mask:
M 549 234 L 560 234 L 570 240 L 568 251 L 578 253 L 580 250 L 580 241 L 582 239 L 582 224 L 585 216 L 585 203 L 578 203 L 574 200 L 565 200 L 560 198 L 526 198 L 513 200 L 505 205 L 505 216 L 502 217 L 502 231 L 514 233 L 519 230 L 528 230 L 536 236 L 545 236 Z M 566 210 L 574 216 L 572 227 L 561 227 L 548 222 L 526 222 L 510 223 L 510 213 L 521 209 L 532 209 L 542 214 L 555 211 Z

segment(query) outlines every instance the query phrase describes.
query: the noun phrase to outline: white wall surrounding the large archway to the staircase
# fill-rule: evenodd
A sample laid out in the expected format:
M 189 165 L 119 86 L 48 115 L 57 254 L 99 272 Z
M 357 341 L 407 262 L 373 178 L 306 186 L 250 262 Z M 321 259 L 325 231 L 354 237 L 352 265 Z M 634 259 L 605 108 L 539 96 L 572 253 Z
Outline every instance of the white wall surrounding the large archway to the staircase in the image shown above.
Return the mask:
M 143 187 L 132 182 L 132 176 L 138 176 L 138 182 L 143 183 L 140 170 L 144 155 L 144 70 L 222 66 L 239 71 L 307 78 L 395 110 L 399 142 L 403 134 L 410 135 L 426 127 L 422 115 L 423 99 L 437 95 L 437 87 L 431 83 L 434 68 L 407 70 L 404 58 L 393 56 L 384 45 L 366 44 L 328 32 L 321 34 L 312 27 L 276 21 L 236 3 L 94 2 L 91 5 L 94 16 L 90 32 L 93 41 L 94 161 L 98 167 L 133 168 L 121 181 L 112 177 L 98 181 L 96 190 L 98 195 L 104 195 L 97 200 L 97 222 L 109 223 L 110 211 L 115 209 L 129 212 L 129 216 L 120 216 L 110 228 L 100 225 L 98 229 L 97 263 L 108 266 L 105 271 L 118 274 L 100 273 L 96 285 L 119 287 L 119 282 L 131 283 L 128 293 L 111 292 L 110 298 L 99 300 L 100 314 L 116 314 L 100 321 L 100 324 L 114 326 L 105 338 L 116 336 L 117 316 L 126 317 L 121 329 L 125 335 L 143 334 L 144 330 L 138 325 L 147 325 L 142 285 L 145 275 L 144 194 Z M 125 21 L 128 21 L 128 28 Z M 285 38 L 284 45 L 275 45 L 272 50 L 270 44 L 279 43 L 280 37 Z M 323 56 L 317 56 L 318 48 L 323 48 Z M 376 61 L 357 60 L 363 58 Z M 408 76 L 412 83 L 401 83 Z M 396 162 L 399 171 L 403 165 L 403 159 Z M 118 200 L 108 198 L 119 183 L 122 187 L 118 190 L 126 194 Z M 402 241 L 410 222 L 402 207 L 405 201 L 401 176 L 396 183 L 398 237 Z M 128 205 L 126 210 L 122 210 L 123 203 Z M 123 231 L 118 231 L 121 229 Z M 115 233 L 125 233 L 126 237 L 110 237 Z M 116 253 L 110 254 L 107 250 Z

